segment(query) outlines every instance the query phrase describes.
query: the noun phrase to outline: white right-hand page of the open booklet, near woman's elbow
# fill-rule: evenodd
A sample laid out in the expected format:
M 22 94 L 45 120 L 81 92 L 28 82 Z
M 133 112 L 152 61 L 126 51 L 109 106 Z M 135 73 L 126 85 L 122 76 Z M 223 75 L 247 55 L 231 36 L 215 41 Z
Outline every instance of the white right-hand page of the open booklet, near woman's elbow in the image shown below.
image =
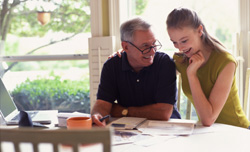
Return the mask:
M 190 135 L 194 130 L 195 123 L 196 121 L 182 119 L 150 120 L 142 133 L 150 135 Z

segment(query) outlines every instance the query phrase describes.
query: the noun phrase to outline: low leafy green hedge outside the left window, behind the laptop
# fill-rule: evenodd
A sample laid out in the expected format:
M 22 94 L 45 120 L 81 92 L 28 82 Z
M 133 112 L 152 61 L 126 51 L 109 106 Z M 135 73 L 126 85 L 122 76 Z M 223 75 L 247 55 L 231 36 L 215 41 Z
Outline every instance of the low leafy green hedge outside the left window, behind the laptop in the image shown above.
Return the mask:
M 90 113 L 88 81 L 49 78 L 27 79 L 11 93 L 19 110 L 56 109 Z M 70 110 L 70 111 L 69 111 Z

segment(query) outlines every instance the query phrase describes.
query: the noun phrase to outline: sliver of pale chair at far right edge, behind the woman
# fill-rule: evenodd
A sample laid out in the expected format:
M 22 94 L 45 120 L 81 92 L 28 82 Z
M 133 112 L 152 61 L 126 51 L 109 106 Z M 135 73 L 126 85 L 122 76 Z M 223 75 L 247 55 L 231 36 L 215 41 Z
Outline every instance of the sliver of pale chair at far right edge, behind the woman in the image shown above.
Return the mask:
M 245 96 L 244 96 L 244 112 L 250 120 L 250 68 L 246 72 L 246 82 L 245 82 Z

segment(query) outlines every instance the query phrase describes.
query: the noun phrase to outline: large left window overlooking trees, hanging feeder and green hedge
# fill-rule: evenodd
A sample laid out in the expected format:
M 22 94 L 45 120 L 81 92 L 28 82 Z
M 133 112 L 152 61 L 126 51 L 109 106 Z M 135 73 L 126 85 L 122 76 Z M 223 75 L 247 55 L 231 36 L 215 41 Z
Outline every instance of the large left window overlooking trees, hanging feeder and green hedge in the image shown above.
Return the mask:
M 18 108 L 89 113 L 90 0 L 0 2 L 16 5 L 1 22 L 0 77 Z

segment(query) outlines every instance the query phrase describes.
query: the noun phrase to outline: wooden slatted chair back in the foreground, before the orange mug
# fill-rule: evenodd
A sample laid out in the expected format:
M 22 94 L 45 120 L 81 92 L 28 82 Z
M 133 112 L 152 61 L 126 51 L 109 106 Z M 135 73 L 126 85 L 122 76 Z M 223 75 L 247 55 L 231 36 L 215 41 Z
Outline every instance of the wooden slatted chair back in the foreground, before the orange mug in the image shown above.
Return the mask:
M 109 128 L 93 128 L 90 130 L 0 128 L 0 148 L 3 147 L 3 142 L 13 143 L 15 152 L 21 152 L 21 143 L 32 144 L 33 152 L 39 152 L 41 149 L 38 148 L 38 145 L 44 143 L 51 144 L 54 152 L 59 151 L 60 144 L 71 147 L 73 152 L 78 152 L 81 144 L 101 143 L 103 151 L 110 152 L 111 130 Z M 5 152 L 6 150 L 0 149 L 0 151 Z

